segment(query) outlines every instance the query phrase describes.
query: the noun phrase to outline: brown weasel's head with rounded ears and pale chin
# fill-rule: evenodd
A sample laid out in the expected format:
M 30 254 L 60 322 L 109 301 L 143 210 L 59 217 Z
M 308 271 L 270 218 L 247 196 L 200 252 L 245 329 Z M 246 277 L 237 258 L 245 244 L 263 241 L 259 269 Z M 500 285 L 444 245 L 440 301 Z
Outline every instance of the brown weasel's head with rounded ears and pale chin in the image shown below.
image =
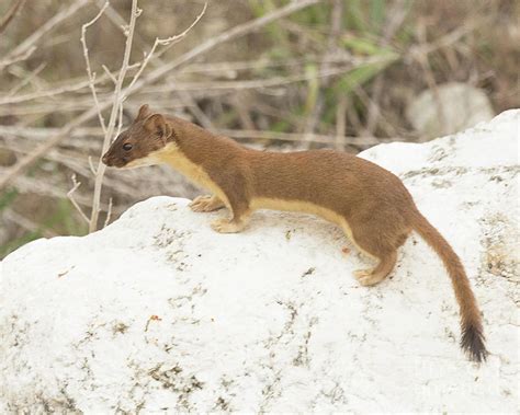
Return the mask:
M 143 105 L 128 129 L 112 142 L 102 161 L 108 166 L 118 169 L 159 164 L 161 161 L 158 154 L 173 142 L 172 132 L 161 114 L 152 114 L 148 105 Z

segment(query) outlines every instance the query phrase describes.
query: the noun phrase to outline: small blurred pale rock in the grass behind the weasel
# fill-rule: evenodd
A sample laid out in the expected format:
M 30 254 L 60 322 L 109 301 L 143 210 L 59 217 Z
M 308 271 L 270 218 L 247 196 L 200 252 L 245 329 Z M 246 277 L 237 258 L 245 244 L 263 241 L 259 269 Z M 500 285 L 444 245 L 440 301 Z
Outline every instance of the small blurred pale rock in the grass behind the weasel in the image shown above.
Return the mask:
M 494 114 L 484 91 L 459 82 L 441 84 L 437 92 L 425 90 L 406 108 L 410 124 L 427 138 L 453 134 L 488 122 Z

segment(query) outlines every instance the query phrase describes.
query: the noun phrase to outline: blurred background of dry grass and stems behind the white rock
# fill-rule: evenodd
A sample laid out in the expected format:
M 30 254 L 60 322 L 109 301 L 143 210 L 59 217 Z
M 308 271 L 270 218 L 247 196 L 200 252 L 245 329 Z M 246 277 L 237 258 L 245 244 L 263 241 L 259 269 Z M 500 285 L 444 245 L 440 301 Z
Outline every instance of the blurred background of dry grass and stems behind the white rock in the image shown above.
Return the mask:
M 103 130 L 97 115 L 81 119 L 94 101 L 80 37 L 104 3 L 0 1 L 0 181 L 10 175 L 0 188 L 0 258 L 33 239 L 88 232 L 67 193 L 76 174 L 74 197 L 90 216 L 89 157 L 95 169 Z M 181 42 L 157 48 L 145 84 L 124 103 L 123 125 L 148 103 L 257 148 L 357 153 L 455 132 L 520 106 L 518 0 L 323 0 L 279 15 L 290 3 L 210 0 Z M 188 28 L 203 7 L 140 0 L 131 64 L 156 37 Z M 131 0 L 112 0 L 87 30 L 100 102 L 113 94 L 131 10 Z M 271 23 L 258 21 L 264 16 Z M 218 37 L 241 25 L 240 36 Z M 176 59 L 182 65 L 147 78 Z M 43 151 L 60 131 L 67 134 Z M 154 195 L 200 193 L 168 168 L 109 170 L 100 226 L 111 198 L 114 220 Z

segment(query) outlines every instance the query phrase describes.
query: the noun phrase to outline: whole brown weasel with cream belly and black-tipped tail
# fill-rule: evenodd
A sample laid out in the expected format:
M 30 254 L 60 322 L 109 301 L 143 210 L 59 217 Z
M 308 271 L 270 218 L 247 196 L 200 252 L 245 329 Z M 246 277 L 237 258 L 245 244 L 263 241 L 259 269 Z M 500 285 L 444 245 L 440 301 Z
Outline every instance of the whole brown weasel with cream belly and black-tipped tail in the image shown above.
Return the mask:
M 377 260 L 373 269 L 355 272 L 363 286 L 380 283 L 394 269 L 397 249 L 417 231 L 451 277 L 461 313 L 461 347 L 475 361 L 486 359 L 481 313 L 459 256 L 387 170 L 340 151 L 248 149 L 184 119 L 154 114 L 148 105 L 115 139 L 103 162 L 115 168 L 170 164 L 212 192 L 191 203 L 194 211 L 230 210 L 231 219 L 212 222 L 218 232 L 239 232 L 256 209 L 318 215 Z

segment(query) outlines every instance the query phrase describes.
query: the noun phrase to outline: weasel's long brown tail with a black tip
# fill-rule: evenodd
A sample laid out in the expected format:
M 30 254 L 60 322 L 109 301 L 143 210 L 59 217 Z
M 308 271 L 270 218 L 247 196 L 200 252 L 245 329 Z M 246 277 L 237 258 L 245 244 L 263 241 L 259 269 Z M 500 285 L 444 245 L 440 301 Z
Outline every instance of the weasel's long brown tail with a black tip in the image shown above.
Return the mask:
M 461 260 L 446 240 L 418 210 L 414 214 L 411 226 L 441 257 L 450 275 L 461 313 L 462 349 L 470 355 L 472 360 L 486 360 L 488 351 L 484 345 L 481 313 Z

